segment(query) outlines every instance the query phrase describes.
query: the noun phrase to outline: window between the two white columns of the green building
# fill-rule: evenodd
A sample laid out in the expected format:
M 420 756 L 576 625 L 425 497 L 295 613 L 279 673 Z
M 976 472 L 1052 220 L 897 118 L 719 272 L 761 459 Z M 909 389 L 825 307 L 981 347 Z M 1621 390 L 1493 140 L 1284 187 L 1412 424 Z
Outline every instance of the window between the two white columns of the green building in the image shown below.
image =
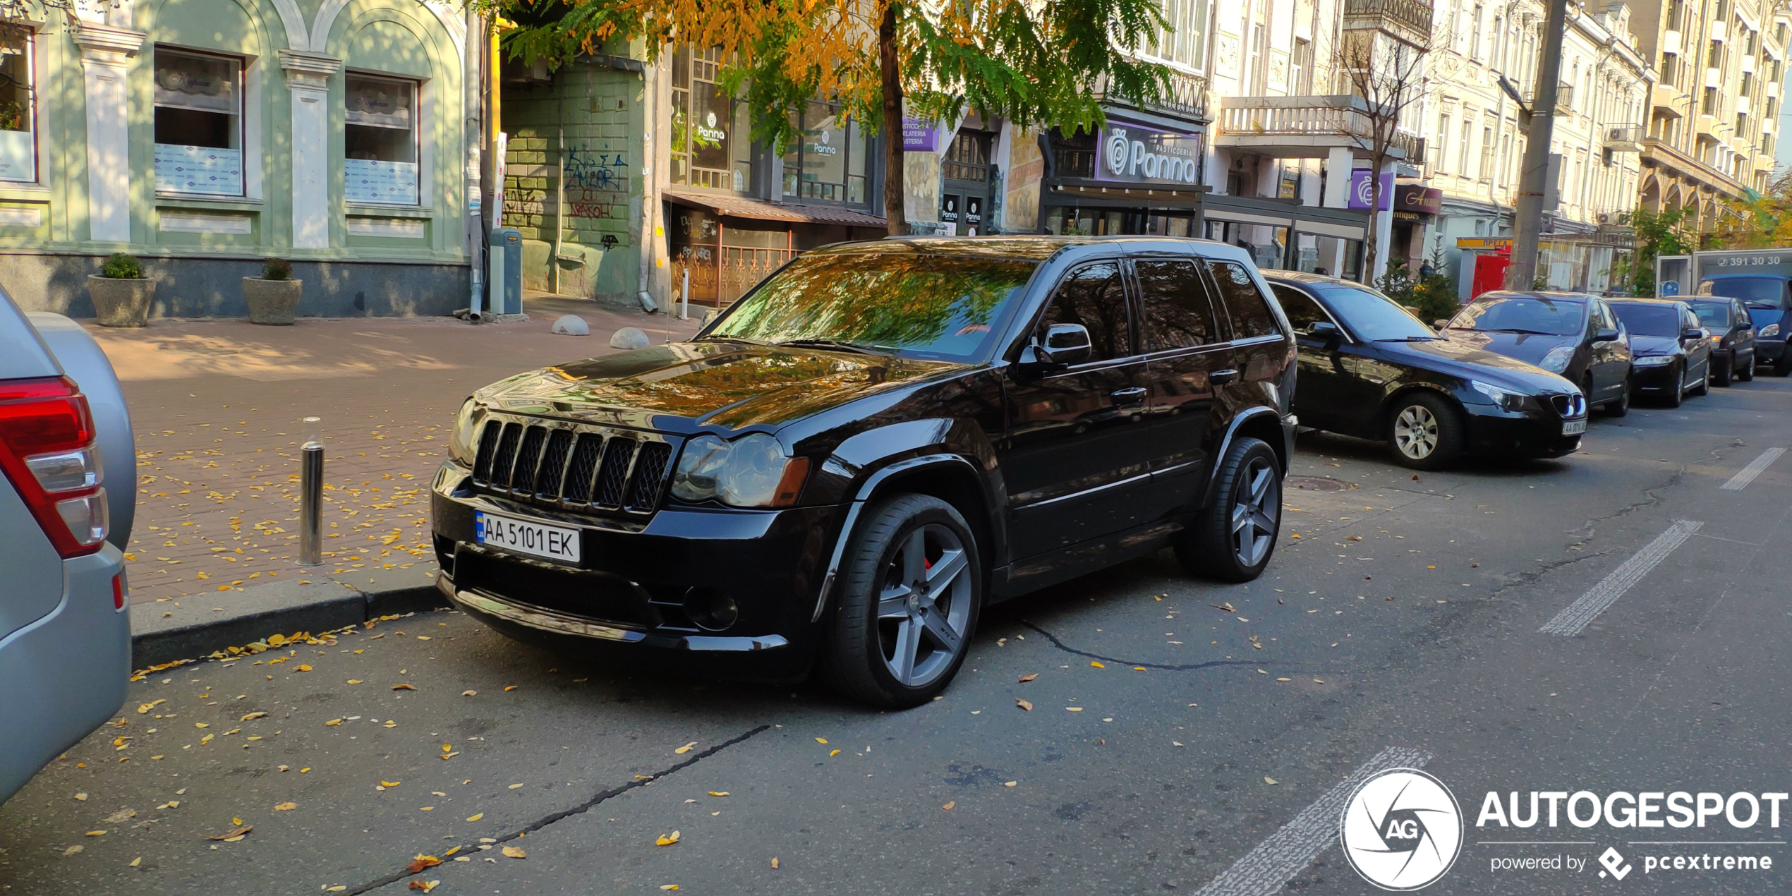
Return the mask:
M 156 48 L 156 192 L 244 195 L 242 59 Z

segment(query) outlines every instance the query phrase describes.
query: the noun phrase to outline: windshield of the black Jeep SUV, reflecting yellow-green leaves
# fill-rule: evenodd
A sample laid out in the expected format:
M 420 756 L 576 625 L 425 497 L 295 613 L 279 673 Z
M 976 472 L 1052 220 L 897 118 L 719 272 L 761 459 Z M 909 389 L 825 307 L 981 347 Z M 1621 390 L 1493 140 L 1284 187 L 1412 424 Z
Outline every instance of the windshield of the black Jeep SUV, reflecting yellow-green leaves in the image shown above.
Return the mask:
M 735 303 L 702 339 L 835 342 L 973 360 L 1038 262 L 943 254 L 810 254 Z

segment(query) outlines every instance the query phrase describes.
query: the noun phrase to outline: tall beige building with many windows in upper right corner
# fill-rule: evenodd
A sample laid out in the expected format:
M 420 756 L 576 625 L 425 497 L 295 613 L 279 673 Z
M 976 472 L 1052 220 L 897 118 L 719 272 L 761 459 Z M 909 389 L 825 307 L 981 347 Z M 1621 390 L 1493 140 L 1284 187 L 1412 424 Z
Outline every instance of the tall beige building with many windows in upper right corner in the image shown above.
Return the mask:
M 1634 0 L 1659 77 L 1641 140 L 1641 206 L 1717 228 L 1724 201 L 1765 190 L 1785 102 L 1788 14 L 1765 0 Z

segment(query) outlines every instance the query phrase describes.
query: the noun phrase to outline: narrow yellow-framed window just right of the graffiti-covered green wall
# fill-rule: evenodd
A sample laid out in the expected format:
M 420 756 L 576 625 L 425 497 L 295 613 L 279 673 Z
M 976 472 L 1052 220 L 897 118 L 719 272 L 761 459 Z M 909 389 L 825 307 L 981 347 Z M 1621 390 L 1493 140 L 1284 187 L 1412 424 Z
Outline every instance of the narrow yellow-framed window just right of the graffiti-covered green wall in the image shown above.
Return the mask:
M 745 192 L 753 181 L 747 106 L 715 82 L 722 50 L 672 52 L 672 183 Z

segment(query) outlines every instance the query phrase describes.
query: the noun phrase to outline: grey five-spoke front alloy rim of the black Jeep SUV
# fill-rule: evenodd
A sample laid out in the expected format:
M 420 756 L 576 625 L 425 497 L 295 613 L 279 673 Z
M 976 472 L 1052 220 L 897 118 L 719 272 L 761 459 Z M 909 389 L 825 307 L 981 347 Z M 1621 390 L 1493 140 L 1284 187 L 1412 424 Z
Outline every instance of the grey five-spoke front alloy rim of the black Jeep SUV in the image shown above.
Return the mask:
M 878 593 L 878 647 L 898 683 L 921 688 L 952 667 L 971 615 L 969 556 L 957 532 L 926 523 L 903 539 Z

